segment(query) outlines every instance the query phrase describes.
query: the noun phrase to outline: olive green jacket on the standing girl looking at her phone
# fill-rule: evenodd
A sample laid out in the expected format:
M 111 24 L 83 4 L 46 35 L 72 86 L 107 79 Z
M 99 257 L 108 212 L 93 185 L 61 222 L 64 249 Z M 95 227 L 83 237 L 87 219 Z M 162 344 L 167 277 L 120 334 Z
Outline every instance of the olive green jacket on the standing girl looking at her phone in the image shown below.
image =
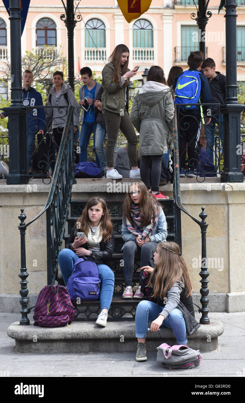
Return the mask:
M 112 75 L 114 73 L 112 62 L 107 63 L 102 70 L 102 97 L 101 109 L 110 110 L 110 112 L 120 113 L 122 110 L 129 109 L 129 86 L 126 87 L 127 104 L 125 106 L 125 87 L 120 83 L 113 83 Z M 127 69 L 129 71 L 129 69 Z M 124 80 L 123 80 L 124 82 Z

